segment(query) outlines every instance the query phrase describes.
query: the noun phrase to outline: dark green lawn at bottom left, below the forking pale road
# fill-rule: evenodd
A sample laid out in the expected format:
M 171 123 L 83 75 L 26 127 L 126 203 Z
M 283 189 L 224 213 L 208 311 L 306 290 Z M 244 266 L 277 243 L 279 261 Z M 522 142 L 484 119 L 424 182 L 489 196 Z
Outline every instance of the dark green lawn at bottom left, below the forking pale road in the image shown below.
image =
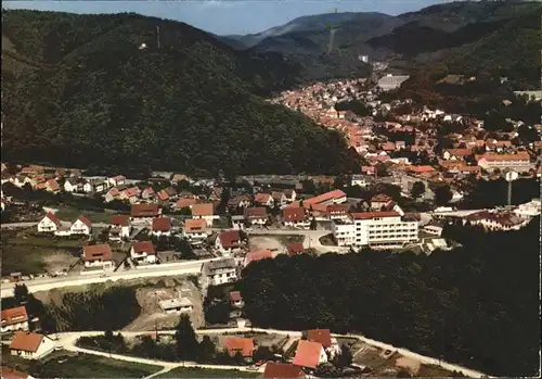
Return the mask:
M 160 366 L 81 354 L 51 359 L 38 366 L 36 374 L 40 378 L 142 378 L 160 369 Z

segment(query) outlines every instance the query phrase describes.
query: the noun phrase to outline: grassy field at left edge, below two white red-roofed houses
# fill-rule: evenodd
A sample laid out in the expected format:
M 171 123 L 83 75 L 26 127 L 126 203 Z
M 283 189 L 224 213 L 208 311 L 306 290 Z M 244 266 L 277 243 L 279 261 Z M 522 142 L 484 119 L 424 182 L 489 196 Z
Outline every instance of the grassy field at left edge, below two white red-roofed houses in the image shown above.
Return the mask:
M 34 229 L 3 230 L 0 245 L 2 276 L 16 271 L 28 275 L 67 268 L 78 260 L 74 254 L 82 243 L 82 239 L 39 236 Z

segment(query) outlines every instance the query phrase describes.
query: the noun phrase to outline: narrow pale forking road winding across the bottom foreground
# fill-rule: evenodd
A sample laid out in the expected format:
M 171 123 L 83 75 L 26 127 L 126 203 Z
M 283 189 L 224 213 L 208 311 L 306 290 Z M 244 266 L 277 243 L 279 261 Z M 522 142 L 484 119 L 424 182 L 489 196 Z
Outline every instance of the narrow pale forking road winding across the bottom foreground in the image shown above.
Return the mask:
M 249 332 L 249 331 L 267 332 L 267 333 L 274 333 L 274 334 L 280 334 L 280 336 L 288 336 L 289 334 L 292 338 L 294 338 L 294 337 L 300 338 L 301 337 L 301 332 L 295 331 L 295 330 L 276 330 L 276 329 L 261 329 L 261 328 L 249 328 L 249 327 L 195 330 L 195 332 L 197 334 L 204 334 L 204 336 L 205 334 L 224 334 L 227 332 Z M 126 332 L 119 331 L 119 332 L 124 337 L 137 337 L 137 336 L 154 333 L 155 331 L 151 330 L 151 331 L 126 331 Z M 87 353 L 87 354 L 109 356 L 108 353 L 96 352 L 93 350 L 82 349 L 82 348 L 78 348 L 75 345 L 75 343 L 77 342 L 77 340 L 80 337 L 102 336 L 103 333 L 104 333 L 103 331 L 80 331 L 80 332 L 59 333 L 59 340 L 56 341 L 56 345 L 62 346 L 68 351 L 78 351 L 78 352 L 82 352 L 82 353 Z M 175 330 L 160 330 L 160 331 L 158 331 L 158 333 L 160 333 L 160 334 L 175 334 Z M 365 338 L 361 334 L 336 334 L 336 333 L 333 333 L 333 337 L 336 337 L 336 338 L 341 338 L 341 337 L 343 338 L 356 338 L 362 342 L 365 342 L 370 345 L 373 345 L 373 346 L 376 346 L 376 348 L 379 348 L 383 350 L 396 351 L 399 354 L 401 354 L 405 357 L 416 359 L 416 361 L 421 362 L 422 364 L 441 366 L 442 368 L 444 368 L 447 370 L 459 371 L 467 377 L 472 377 L 472 378 L 489 377 L 482 372 L 479 372 L 479 371 L 476 371 L 476 370 L 473 370 L 473 369 L 469 369 L 469 368 L 466 368 L 466 367 L 463 367 L 460 365 L 447 363 L 443 361 L 439 361 L 437 358 L 433 358 L 429 356 L 424 356 L 424 355 L 421 355 L 417 353 L 413 353 L 406 349 L 396 348 L 396 346 L 390 345 L 388 343 L 384 343 L 384 342 L 379 342 L 379 341 L 375 341 L 375 340 Z M 171 362 L 165 362 L 165 361 L 153 361 L 153 359 L 145 359 L 145 358 L 139 358 L 139 357 L 133 357 L 133 356 L 118 355 L 118 354 L 112 354 L 111 356 L 113 358 L 116 358 L 116 359 L 140 362 L 140 363 L 145 363 L 149 365 L 158 365 L 158 366 L 163 366 L 165 369 L 166 368 L 172 369 L 176 367 L 184 366 L 184 367 L 247 370 L 244 367 L 237 367 L 237 366 L 201 365 L 201 364 L 197 364 L 195 362 L 171 363 Z M 259 369 L 261 371 L 263 371 L 264 365 L 262 365 L 262 367 L 260 367 Z M 491 378 L 491 377 L 489 377 L 489 378 Z

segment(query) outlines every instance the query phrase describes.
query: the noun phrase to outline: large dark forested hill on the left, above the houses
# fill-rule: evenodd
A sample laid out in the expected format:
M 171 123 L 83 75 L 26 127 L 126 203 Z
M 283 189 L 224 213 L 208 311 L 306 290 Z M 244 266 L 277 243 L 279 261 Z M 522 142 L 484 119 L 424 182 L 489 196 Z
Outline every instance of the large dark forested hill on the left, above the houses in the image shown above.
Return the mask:
M 126 13 L 10 10 L 2 31 L 5 160 L 209 174 L 356 166 L 338 134 L 259 97 L 298 80 L 279 54 Z

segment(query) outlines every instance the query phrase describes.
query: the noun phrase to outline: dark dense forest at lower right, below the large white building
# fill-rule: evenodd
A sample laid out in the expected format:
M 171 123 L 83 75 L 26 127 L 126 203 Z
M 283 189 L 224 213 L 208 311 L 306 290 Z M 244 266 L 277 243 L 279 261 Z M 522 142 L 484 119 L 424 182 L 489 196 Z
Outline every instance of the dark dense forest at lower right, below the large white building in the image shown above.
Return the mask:
M 331 328 L 476 368 L 539 369 L 540 217 L 519 231 L 447 225 L 453 251 L 279 256 L 243 271 L 253 324 Z

